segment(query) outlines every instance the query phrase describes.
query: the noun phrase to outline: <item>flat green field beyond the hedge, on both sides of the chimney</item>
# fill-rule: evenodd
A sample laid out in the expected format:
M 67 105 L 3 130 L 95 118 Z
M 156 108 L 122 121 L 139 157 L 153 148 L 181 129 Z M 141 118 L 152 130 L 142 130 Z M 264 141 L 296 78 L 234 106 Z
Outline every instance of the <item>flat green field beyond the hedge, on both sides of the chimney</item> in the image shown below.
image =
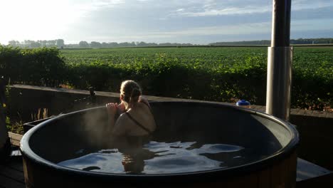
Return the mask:
M 133 63 L 134 61 L 154 62 L 161 56 L 181 61 L 181 63 L 208 63 L 211 66 L 242 63 L 247 58 L 260 58 L 267 61 L 266 47 L 216 47 L 216 48 L 98 48 L 98 49 L 63 49 L 61 53 L 68 63 Z M 329 47 L 294 47 L 293 63 L 300 65 L 318 65 L 333 63 L 333 46 Z M 315 68 L 315 67 L 313 67 Z

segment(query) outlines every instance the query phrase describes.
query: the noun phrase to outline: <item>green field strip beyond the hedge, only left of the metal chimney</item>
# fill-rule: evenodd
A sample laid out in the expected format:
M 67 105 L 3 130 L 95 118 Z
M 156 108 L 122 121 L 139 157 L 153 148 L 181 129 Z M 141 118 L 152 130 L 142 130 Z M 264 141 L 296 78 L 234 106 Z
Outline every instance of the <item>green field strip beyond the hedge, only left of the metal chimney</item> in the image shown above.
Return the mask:
M 332 48 L 333 49 L 333 48 Z M 99 48 L 61 50 L 68 63 L 151 63 L 162 56 L 181 63 L 233 64 L 250 56 L 264 57 L 267 48 Z

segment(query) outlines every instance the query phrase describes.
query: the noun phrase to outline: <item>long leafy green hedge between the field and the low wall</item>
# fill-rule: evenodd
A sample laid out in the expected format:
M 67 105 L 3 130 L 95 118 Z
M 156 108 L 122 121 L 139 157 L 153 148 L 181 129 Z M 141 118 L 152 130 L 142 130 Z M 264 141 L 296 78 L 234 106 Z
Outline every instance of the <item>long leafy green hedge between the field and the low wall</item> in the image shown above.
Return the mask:
M 204 62 L 200 57 L 184 61 L 170 53 L 156 53 L 149 59 L 130 57 L 129 61 L 88 62 L 66 62 L 56 48 L 0 47 L 0 74 L 11 78 L 11 83 L 46 86 L 62 83 L 78 89 L 93 86 L 95 90 L 119 92 L 121 81 L 132 79 L 142 85 L 145 95 L 223 102 L 244 98 L 265 105 L 265 53 L 218 63 Z M 318 62 L 315 68 L 313 64 L 296 63 L 292 73 L 292 107 L 332 108 L 332 67 L 327 60 Z

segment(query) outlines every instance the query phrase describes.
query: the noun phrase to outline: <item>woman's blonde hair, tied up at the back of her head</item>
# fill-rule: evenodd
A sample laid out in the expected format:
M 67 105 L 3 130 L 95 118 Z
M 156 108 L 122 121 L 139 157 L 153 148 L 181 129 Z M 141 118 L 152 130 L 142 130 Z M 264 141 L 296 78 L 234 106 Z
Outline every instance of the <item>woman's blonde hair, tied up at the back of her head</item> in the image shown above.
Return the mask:
M 133 80 L 125 80 L 120 86 L 120 95 L 123 96 L 123 100 L 126 102 L 125 107 L 128 108 L 129 104 L 134 105 L 139 101 L 139 96 L 142 94 L 140 85 Z

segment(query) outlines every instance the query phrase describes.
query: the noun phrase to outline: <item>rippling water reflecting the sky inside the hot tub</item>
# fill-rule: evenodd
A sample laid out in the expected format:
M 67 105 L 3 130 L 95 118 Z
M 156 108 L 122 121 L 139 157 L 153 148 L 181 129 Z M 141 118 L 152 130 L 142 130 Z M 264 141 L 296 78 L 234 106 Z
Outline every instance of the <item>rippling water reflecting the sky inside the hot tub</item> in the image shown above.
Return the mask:
M 75 159 L 58 164 L 93 172 L 174 174 L 221 169 L 244 164 L 244 148 L 198 142 L 150 141 L 132 150 L 78 150 Z

